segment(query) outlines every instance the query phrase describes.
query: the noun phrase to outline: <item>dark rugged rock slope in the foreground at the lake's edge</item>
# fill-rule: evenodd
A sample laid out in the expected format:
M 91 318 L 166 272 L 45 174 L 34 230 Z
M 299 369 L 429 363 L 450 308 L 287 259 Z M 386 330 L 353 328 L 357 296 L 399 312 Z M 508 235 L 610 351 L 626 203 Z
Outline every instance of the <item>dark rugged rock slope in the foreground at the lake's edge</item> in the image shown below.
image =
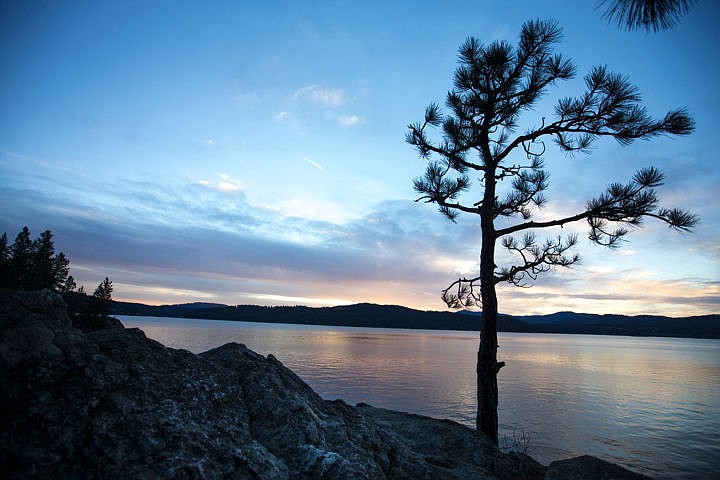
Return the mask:
M 645 478 L 566 462 L 548 469 L 454 422 L 323 400 L 243 345 L 193 355 L 112 320 L 73 325 L 49 292 L 0 291 L 3 478 Z

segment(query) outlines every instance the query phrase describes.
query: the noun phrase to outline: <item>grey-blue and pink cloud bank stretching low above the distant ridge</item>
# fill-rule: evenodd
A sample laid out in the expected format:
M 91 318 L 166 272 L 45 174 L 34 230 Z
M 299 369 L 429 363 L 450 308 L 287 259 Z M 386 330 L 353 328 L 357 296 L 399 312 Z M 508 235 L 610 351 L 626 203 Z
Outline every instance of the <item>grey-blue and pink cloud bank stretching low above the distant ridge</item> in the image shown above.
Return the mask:
M 301 158 L 319 168 L 309 157 Z M 0 204 L 14 206 L 0 218 L 2 231 L 12 236 L 27 222 L 33 233 L 50 228 L 79 283 L 90 287 L 109 275 L 118 299 L 373 301 L 442 309 L 440 290 L 477 271 L 475 219 L 462 216 L 450 226 L 433 208 L 410 200 L 382 202 L 348 220 L 318 215 L 313 211 L 318 205 L 292 199 L 276 208 L 254 204 L 242 182 L 229 174 L 185 185 L 83 182 L 52 196 L 43 185 L 0 189 Z M 549 273 L 533 288 L 502 285 L 501 310 L 716 311 L 717 283 L 638 270 L 629 259 L 641 255 L 638 250 L 608 264 L 602 251 L 595 251 L 587 265 Z

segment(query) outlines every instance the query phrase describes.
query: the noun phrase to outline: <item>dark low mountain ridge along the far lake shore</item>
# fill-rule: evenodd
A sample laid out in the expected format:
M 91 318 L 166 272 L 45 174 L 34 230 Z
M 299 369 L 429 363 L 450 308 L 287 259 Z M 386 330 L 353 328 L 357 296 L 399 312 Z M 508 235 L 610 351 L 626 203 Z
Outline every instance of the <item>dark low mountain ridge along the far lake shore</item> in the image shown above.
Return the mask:
M 114 315 L 426 330 L 479 331 L 482 322 L 481 312 L 422 311 L 397 305 L 372 303 L 336 307 L 265 307 L 258 305 L 229 306 L 202 302 L 153 306 L 113 301 L 111 313 Z M 657 315 L 627 316 L 558 312 L 550 315 L 500 315 L 498 323 L 498 330 L 501 332 L 720 338 L 720 315 L 671 318 Z

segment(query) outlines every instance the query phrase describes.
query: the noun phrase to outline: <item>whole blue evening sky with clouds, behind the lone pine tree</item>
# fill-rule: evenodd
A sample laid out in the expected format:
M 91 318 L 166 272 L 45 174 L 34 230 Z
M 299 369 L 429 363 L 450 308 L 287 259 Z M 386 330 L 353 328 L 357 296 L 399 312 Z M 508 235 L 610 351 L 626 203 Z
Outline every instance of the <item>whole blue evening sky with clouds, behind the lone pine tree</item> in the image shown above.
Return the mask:
M 701 223 L 648 222 L 614 251 L 566 227 L 583 263 L 500 285 L 500 310 L 718 313 L 720 6 L 648 34 L 593 1 L 508 3 L 2 2 L 0 231 L 52 230 L 78 282 L 107 275 L 121 300 L 443 309 L 441 289 L 477 271 L 479 229 L 413 202 L 425 163 L 407 125 L 444 100 L 468 36 L 515 42 L 525 20 L 554 18 L 578 77 L 526 126 L 605 64 L 651 114 L 685 107 L 697 131 L 549 149 L 541 215 L 654 165 L 663 204 Z

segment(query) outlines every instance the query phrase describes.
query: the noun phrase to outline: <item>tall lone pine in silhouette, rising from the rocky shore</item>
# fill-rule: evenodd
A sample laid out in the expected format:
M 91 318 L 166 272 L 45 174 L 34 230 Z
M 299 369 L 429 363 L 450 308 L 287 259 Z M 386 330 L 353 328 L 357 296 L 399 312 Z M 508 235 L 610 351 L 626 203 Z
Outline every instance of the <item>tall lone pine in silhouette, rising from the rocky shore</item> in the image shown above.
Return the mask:
M 509 42 L 483 45 L 469 38 L 460 47 L 454 89 L 447 94 L 449 112 L 432 103 L 424 120 L 408 127 L 407 141 L 428 160 L 425 175 L 415 179 L 421 195 L 418 201 L 437 204 L 453 221 L 460 213 L 480 218 L 479 274 L 459 278 L 443 290 L 442 297 L 452 308 L 482 307 L 477 429 L 495 443 L 497 374 L 504 366 L 497 361 L 496 285 L 529 286 L 539 274 L 579 261 L 578 255 L 569 253 L 577 236 L 538 241 L 534 230 L 585 221 L 590 240 L 617 247 L 629 227 L 640 226 L 644 217 L 679 230 L 697 223 L 697 217 L 688 212 L 658 207 L 655 188 L 663 176 L 652 167 L 638 171 L 627 183 L 610 185 L 574 215 L 532 220 L 546 201 L 548 174 L 542 159 L 546 140 L 554 140 L 561 151 L 572 154 L 587 151 L 600 137 L 627 145 L 658 135 L 687 135 L 694 129 L 684 110 L 652 119 L 639 105 L 640 95 L 627 78 L 595 67 L 585 77 L 584 93 L 561 99 L 552 118 L 539 118 L 519 133 L 520 115 L 532 110 L 550 86 L 575 75 L 571 61 L 553 52 L 560 36 L 555 22 L 538 20 L 522 26 L 517 46 Z M 441 139 L 431 139 L 429 129 L 440 129 Z M 478 186 L 471 190 L 473 179 L 478 179 Z M 503 226 L 498 228 L 496 220 Z M 496 266 L 498 241 L 515 255 L 517 263 Z

